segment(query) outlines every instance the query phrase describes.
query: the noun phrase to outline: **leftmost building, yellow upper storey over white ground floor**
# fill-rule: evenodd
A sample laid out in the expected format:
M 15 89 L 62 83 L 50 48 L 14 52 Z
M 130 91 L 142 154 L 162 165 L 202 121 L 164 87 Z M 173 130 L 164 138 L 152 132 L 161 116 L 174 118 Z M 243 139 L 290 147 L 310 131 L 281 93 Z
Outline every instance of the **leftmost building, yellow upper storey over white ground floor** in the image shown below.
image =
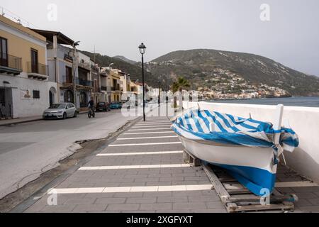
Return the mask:
M 0 117 L 40 116 L 49 106 L 46 38 L 0 16 Z

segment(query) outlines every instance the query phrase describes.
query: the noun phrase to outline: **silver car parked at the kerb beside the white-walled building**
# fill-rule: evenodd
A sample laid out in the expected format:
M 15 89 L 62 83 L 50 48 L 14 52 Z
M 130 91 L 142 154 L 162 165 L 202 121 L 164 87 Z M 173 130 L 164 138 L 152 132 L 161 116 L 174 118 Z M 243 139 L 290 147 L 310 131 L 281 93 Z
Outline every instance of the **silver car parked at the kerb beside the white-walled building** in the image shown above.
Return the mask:
M 77 117 L 77 108 L 75 108 L 74 104 L 65 103 L 65 104 L 52 104 L 49 109 L 46 109 L 43 112 L 43 118 L 76 118 Z

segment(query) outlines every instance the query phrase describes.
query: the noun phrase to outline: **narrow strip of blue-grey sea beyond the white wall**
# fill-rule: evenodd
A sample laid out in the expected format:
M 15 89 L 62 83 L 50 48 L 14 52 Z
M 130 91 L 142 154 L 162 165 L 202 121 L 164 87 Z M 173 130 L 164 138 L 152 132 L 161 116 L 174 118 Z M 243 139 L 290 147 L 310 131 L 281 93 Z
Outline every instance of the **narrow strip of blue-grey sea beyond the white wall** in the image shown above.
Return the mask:
M 227 103 L 227 104 L 258 104 L 258 105 L 283 104 L 284 106 L 319 107 L 319 96 L 318 97 L 271 98 L 271 99 L 211 100 L 210 102 Z

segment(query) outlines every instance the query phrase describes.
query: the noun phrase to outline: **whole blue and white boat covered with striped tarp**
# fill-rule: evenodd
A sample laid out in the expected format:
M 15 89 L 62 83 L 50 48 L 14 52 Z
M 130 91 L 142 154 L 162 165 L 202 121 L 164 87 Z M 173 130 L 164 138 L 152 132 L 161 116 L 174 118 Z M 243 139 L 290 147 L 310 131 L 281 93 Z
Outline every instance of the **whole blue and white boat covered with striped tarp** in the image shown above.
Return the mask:
M 275 123 L 216 111 L 193 109 L 179 116 L 172 129 L 186 152 L 222 167 L 257 196 L 271 194 L 279 157 L 298 147 L 298 135 L 281 126 L 284 106 L 275 111 Z

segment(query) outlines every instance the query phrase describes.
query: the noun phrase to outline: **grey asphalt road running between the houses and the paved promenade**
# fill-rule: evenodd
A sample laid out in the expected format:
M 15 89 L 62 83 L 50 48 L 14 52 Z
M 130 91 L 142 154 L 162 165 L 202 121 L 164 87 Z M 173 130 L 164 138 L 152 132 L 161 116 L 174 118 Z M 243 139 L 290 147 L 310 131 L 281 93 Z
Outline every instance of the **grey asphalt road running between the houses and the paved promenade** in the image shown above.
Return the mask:
M 84 114 L 0 127 L 0 199 L 72 155 L 79 148 L 75 141 L 106 138 L 135 118 L 113 110 L 91 119 Z

